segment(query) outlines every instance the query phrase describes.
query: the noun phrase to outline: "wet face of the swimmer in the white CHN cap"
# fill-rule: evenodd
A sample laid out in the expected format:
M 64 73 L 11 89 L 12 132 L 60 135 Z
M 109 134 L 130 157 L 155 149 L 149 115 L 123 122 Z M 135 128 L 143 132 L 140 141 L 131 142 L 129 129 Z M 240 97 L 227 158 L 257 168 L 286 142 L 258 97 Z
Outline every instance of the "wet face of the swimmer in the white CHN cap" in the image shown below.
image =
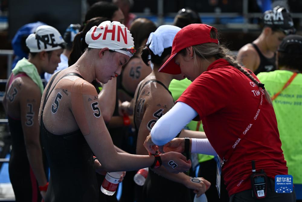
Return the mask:
M 108 48 L 99 50 L 99 58 L 95 67 L 95 77 L 102 83 L 107 83 L 115 75 L 120 75 L 122 66 L 125 65 L 130 57 L 114 51 L 109 51 Z

